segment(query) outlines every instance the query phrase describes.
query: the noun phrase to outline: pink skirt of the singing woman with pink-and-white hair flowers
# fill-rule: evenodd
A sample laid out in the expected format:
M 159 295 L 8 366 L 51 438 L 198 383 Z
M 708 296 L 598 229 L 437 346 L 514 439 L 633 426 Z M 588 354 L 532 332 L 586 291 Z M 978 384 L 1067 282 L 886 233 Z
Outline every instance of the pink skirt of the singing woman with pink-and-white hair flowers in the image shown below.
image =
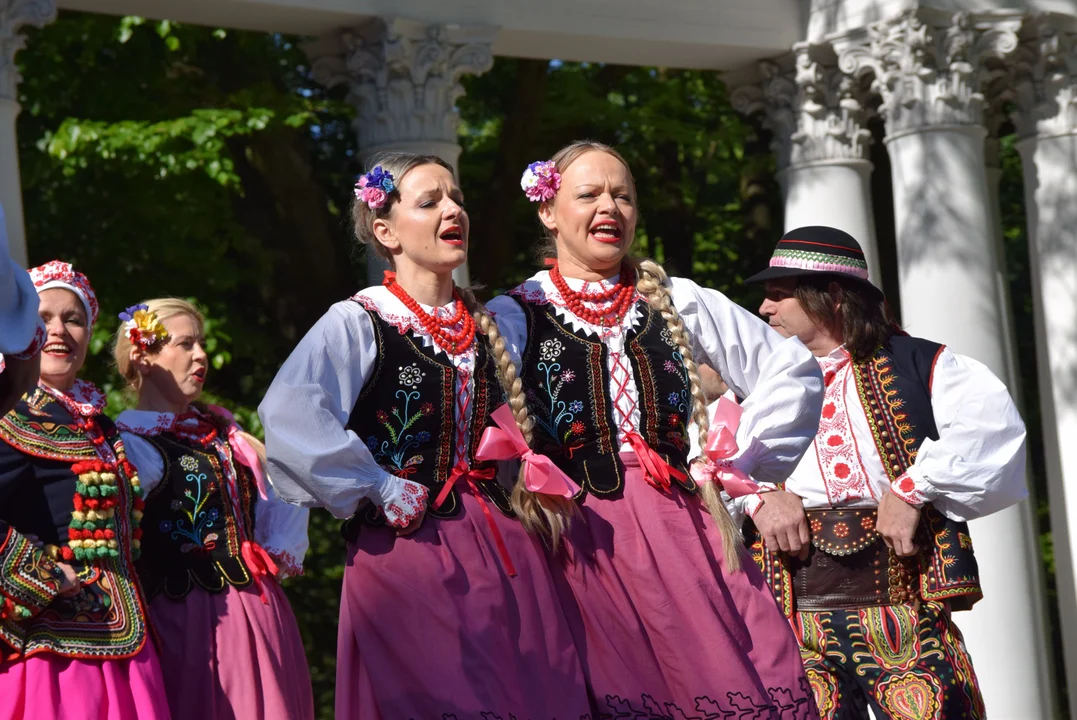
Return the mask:
M 817 718 L 758 568 L 745 553 L 730 573 L 702 502 L 621 461 L 624 495 L 587 496 L 550 563 L 598 716 Z

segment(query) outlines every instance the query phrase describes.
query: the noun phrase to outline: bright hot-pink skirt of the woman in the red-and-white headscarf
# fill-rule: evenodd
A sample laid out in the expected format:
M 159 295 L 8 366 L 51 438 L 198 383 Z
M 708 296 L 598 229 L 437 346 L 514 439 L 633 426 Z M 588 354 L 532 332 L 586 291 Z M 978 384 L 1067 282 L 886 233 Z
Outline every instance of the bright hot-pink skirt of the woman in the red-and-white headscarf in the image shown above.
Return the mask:
M 0 720 L 168 720 L 153 643 L 124 660 L 42 652 L 0 668 Z

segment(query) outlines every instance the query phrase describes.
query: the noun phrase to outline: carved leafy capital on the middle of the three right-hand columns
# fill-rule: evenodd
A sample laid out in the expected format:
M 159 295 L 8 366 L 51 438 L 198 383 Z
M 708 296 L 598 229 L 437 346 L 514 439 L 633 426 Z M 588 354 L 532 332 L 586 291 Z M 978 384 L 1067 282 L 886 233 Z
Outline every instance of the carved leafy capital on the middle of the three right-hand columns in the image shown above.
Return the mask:
M 984 75 L 1018 47 L 1020 19 L 974 22 L 957 13 L 928 23 L 917 11 L 868 28 L 839 53 L 839 66 L 871 76 L 890 136 L 939 125 L 983 125 Z

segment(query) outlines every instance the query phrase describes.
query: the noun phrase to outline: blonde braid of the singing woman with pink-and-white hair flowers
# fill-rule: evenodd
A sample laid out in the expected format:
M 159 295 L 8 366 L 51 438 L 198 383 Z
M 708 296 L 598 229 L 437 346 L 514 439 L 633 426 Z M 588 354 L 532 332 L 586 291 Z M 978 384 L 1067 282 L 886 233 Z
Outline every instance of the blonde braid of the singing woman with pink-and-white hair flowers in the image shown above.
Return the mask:
M 703 383 L 699 379 L 699 369 L 693 357 L 691 341 L 685 330 L 684 321 L 673 307 L 673 300 L 668 286 L 669 277 L 666 270 L 658 263 L 652 259 L 631 260 L 635 267 L 637 281 L 635 290 L 644 297 L 653 309 L 661 313 L 666 321 L 666 326 L 684 357 L 685 368 L 688 370 L 688 383 L 693 398 L 691 421 L 696 423 L 699 432 L 699 447 L 707 444 L 707 433 L 710 429 L 711 421 L 707 417 L 707 398 L 703 395 Z M 726 565 L 730 570 L 737 570 L 741 566 L 741 553 L 744 548 L 740 532 L 729 517 L 725 503 L 718 493 L 718 488 L 713 482 L 704 482 L 699 486 L 703 505 L 710 511 L 714 522 L 717 523 L 718 532 L 722 534 L 722 546 L 725 551 Z

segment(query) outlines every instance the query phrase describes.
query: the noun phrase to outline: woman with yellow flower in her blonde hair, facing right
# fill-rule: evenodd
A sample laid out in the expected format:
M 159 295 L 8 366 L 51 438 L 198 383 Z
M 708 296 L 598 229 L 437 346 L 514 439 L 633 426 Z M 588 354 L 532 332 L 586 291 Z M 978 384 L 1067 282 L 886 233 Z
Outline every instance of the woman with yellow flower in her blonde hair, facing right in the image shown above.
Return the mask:
M 307 551 L 307 510 L 266 483 L 264 450 L 198 401 L 205 321 L 157 298 L 120 315 L 113 356 L 137 398 L 116 418 L 146 493 L 139 578 L 174 718 L 314 717 L 310 673 L 279 580 Z

